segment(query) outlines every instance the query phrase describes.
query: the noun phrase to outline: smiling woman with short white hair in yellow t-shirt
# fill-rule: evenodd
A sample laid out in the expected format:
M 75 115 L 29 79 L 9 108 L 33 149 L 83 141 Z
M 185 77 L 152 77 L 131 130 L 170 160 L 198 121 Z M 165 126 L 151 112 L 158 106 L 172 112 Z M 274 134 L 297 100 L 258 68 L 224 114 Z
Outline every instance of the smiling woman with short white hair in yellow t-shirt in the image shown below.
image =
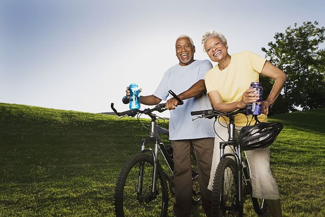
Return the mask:
M 267 122 L 269 106 L 274 103 L 283 88 L 286 75 L 272 65 L 266 59 L 249 51 L 237 54 L 228 54 L 227 40 L 217 31 L 208 31 L 202 37 L 204 51 L 210 59 L 218 64 L 205 75 L 205 85 L 208 97 L 214 109 L 229 112 L 245 108 L 247 104 L 259 100 L 259 94 L 250 89 L 251 82 L 259 81 L 259 74 L 273 79 L 274 85 L 262 103 L 262 113 L 259 116 L 261 122 Z M 227 118 L 220 121 L 228 121 Z M 235 124 L 241 127 L 246 126 L 247 118 L 242 114 L 235 116 Z M 227 129 L 217 124 L 215 126 L 218 135 L 226 140 Z M 211 169 L 211 178 L 208 188 L 212 189 L 214 172 L 219 163 L 219 142 L 221 139 L 215 137 L 215 149 Z M 226 149 L 225 152 L 230 150 Z M 280 194 L 277 184 L 272 177 L 270 163 L 270 148 L 252 150 L 245 152 L 251 172 L 253 197 L 264 198 L 273 216 L 282 216 Z

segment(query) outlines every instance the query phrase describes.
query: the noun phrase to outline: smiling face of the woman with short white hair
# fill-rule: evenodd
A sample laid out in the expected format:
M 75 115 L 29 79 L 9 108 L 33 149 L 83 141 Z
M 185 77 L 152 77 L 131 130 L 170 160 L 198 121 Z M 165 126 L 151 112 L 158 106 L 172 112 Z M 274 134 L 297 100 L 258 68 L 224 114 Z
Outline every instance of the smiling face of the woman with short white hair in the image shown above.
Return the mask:
M 220 62 L 228 56 L 228 46 L 218 37 L 210 37 L 205 41 L 204 49 L 210 59 Z

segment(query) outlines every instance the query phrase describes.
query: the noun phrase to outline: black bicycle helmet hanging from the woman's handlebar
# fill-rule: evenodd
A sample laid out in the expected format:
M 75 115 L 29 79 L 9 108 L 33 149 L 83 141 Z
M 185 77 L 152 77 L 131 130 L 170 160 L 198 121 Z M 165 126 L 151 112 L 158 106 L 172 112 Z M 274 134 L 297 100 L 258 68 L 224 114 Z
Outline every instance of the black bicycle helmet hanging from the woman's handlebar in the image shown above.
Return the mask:
M 283 129 L 278 122 L 259 123 L 243 127 L 239 135 L 239 143 L 243 150 L 262 149 L 270 146 Z

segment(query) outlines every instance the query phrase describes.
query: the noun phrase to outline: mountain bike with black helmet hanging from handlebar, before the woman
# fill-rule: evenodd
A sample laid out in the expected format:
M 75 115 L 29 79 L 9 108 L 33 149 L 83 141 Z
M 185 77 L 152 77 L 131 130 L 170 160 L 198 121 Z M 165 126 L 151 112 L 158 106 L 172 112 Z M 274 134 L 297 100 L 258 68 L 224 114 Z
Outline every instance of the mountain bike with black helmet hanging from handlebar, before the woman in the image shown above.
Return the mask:
M 254 210 L 261 215 L 266 212 L 267 205 L 264 199 L 252 197 L 252 186 L 250 181 L 249 166 L 243 151 L 259 148 L 256 146 L 256 140 L 247 143 L 249 136 L 257 135 L 257 140 L 264 142 L 269 146 L 283 129 L 283 125 L 277 122 L 260 123 L 257 116 L 254 115 L 255 125 L 243 127 L 240 134 L 235 128 L 235 114 L 246 115 L 246 110 L 241 109 L 234 112 L 220 112 L 217 110 L 193 111 L 192 115 L 197 118 L 213 118 L 215 124 L 219 117 L 226 116 L 229 118 L 228 140 L 220 142 L 220 162 L 217 166 L 212 192 L 212 216 L 243 216 L 243 205 L 245 197 L 250 197 Z M 247 117 L 247 115 L 246 115 Z M 248 117 L 247 117 L 248 123 Z M 260 130 L 263 124 L 263 132 Z M 245 130 L 243 130 L 245 128 Z M 271 131 L 272 130 L 272 131 Z M 261 132 L 260 132 L 261 131 Z M 248 133 L 248 134 L 247 134 Z M 263 133 L 265 135 L 263 135 Z M 218 132 L 216 132 L 218 136 Z M 254 138 L 253 138 L 254 139 Z M 263 139 L 268 139 L 264 141 Z M 263 143 L 263 145 L 264 145 Z M 255 146 L 254 146 L 255 145 Z M 233 153 L 224 153 L 226 146 L 231 147 Z

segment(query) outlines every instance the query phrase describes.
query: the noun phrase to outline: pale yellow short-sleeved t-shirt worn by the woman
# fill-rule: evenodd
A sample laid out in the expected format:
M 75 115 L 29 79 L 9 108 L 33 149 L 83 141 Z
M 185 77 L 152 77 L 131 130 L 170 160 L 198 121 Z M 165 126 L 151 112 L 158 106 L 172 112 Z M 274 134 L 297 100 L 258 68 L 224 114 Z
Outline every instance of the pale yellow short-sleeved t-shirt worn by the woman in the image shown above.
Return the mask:
M 230 63 L 225 69 L 220 71 L 216 65 L 205 74 L 207 93 L 218 90 L 223 103 L 240 101 L 250 83 L 259 81 L 259 74 L 266 61 L 265 58 L 250 51 L 243 51 L 230 56 Z M 249 121 L 251 117 L 251 115 L 248 116 Z M 229 119 L 225 118 L 226 122 L 229 123 Z M 264 114 L 259 115 L 258 118 L 261 122 L 267 122 L 267 116 Z M 220 118 L 220 121 L 224 122 L 224 119 Z M 255 123 L 254 120 L 253 123 Z M 235 124 L 236 126 L 246 126 L 246 116 L 243 114 L 235 115 Z

